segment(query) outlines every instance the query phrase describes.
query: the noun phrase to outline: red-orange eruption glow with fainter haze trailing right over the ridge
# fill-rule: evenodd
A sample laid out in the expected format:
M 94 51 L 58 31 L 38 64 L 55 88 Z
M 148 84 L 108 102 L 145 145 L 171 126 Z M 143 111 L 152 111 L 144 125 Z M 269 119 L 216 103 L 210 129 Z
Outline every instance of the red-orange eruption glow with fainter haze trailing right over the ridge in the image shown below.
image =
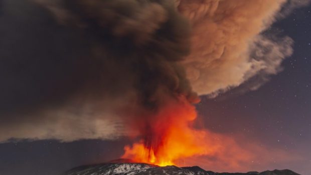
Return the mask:
M 163 105 L 155 116 L 144 115 L 132 120 L 132 127 L 138 129 L 143 139 L 126 145 L 122 158 L 159 166 L 199 165 L 215 171 L 266 168 L 275 159 L 293 159 L 291 154 L 278 149 L 271 151 L 260 142 L 243 136 L 237 140 L 237 134 L 197 129 L 193 125 L 197 113 L 192 104 L 183 99 L 167 101 L 170 102 Z M 271 152 L 275 158 L 267 159 Z

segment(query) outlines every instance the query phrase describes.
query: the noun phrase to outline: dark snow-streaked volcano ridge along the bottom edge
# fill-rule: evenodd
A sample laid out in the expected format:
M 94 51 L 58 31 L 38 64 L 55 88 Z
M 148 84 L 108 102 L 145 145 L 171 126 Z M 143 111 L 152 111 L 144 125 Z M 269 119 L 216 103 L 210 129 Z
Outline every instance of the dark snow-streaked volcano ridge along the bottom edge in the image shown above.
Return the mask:
M 147 163 L 133 163 L 129 159 L 116 159 L 103 164 L 83 165 L 68 170 L 64 175 L 300 175 L 289 169 L 272 171 L 250 171 L 229 173 L 207 171 L 199 166 L 157 166 Z

